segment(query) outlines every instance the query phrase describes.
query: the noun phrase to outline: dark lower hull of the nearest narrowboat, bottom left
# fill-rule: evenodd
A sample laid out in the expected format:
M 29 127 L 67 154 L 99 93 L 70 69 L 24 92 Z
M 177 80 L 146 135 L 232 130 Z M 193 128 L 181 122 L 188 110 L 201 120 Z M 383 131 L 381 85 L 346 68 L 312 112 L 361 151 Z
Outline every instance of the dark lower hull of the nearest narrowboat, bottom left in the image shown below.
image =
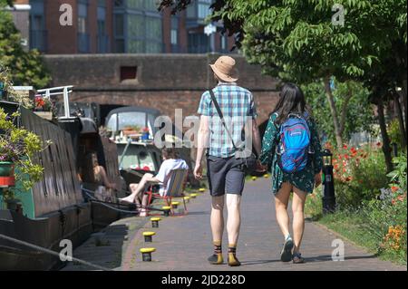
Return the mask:
M 64 222 L 62 222 L 64 220 Z M 10 210 L 0 210 L 0 234 L 60 252 L 60 242 L 70 240 L 73 248 L 92 234 L 91 204 L 66 207 L 61 212 L 30 219 Z M 53 270 L 63 266 L 56 256 L 0 238 L 0 270 Z

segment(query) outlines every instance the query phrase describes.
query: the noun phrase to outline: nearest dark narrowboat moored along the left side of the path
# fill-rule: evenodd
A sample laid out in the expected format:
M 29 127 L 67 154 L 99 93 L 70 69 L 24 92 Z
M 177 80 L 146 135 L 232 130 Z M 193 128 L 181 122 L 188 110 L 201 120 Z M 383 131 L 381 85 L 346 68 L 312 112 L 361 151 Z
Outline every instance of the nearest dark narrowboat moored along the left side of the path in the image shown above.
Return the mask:
M 56 91 L 61 90 L 67 97 L 68 90 Z M 57 92 L 45 90 L 45 94 L 52 93 Z M 82 162 L 83 156 L 92 149 L 109 178 L 121 188 L 116 145 L 99 134 L 94 120 L 86 115 L 72 116 L 69 110 L 56 120 L 44 120 L 9 101 L 0 101 L 0 107 L 6 113 L 19 111 L 18 126 L 33 131 L 42 140 L 53 141 L 36 156 L 36 161 L 44 167 L 41 181 L 29 191 L 15 190 L 20 203 L 18 209 L 6 207 L 5 188 L 0 188 L 0 235 L 59 252 L 61 240 L 68 239 L 73 247 L 79 246 L 93 231 L 126 215 L 123 210 L 129 207 L 90 202 L 94 184 L 80 182 L 79 171 L 89 169 Z M 16 188 L 19 186 L 17 183 Z M 112 202 L 121 197 L 111 194 Z M 52 270 L 62 265 L 58 257 L 0 237 L 0 270 Z

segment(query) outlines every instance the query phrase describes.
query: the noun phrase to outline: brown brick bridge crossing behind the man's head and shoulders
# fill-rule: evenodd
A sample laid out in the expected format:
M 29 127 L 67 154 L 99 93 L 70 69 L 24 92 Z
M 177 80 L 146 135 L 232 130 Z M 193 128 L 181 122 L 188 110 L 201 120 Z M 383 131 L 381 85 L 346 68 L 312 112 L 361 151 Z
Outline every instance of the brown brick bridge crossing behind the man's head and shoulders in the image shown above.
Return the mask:
M 53 86 L 74 85 L 72 101 L 103 107 L 135 105 L 159 109 L 174 118 L 196 115 L 202 92 L 216 84 L 209 63 L 218 54 L 83 54 L 47 55 Z M 277 80 L 260 67 L 237 60 L 238 84 L 253 92 L 258 123 L 267 120 L 277 102 Z

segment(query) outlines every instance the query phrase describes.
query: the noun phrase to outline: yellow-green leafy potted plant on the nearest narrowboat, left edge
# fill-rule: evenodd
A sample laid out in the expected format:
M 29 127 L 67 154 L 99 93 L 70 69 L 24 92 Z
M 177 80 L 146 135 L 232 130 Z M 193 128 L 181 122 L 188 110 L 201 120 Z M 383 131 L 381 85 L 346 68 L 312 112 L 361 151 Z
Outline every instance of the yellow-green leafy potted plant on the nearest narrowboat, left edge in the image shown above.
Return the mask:
M 18 112 L 9 115 L 0 108 L 0 163 L 4 170 L 15 169 L 15 180 L 28 190 L 43 177 L 44 168 L 34 163 L 34 155 L 48 147 L 51 141 L 44 142 L 38 135 L 15 126 Z

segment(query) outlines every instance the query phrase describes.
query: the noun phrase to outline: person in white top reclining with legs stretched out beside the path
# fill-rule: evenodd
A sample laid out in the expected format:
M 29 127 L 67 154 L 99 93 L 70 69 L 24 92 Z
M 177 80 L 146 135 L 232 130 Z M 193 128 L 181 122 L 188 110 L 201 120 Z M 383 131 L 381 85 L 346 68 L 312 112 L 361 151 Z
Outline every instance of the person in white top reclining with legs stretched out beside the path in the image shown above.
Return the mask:
M 141 207 L 140 216 L 146 217 L 146 209 L 148 206 L 148 196 L 142 193 L 145 192 L 147 188 L 151 185 L 159 184 L 160 185 L 160 196 L 163 196 L 165 193 L 165 188 L 169 183 L 170 173 L 173 169 L 189 169 L 186 161 L 180 159 L 177 150 L 174 148 L 165 148 L 161 150 L 163 162 L 160 166 L 159 173 L 157 175 L 152 175 L 146 173 L 141 178 L 139 184 L 131 184 L 131 195 L 128 197 L 120 198 L 120 201 L 127 203 L 136 203 L 137 207 Z

